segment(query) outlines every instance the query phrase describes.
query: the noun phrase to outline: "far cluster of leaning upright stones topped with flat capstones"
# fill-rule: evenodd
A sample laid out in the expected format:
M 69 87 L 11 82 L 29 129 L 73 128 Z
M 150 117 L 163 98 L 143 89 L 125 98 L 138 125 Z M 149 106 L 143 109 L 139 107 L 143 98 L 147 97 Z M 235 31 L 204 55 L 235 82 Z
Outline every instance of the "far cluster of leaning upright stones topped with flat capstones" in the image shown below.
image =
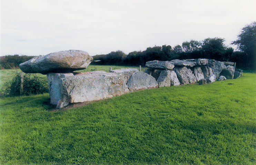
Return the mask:
M 150 61 L 145 72 L 156 78 L 159 87 L 196 83 L 213 83 L 215 80 L 233 79 L 242 76 L 243 70 L 235 69 L 233 62 L 213 59 L 188 59 Z

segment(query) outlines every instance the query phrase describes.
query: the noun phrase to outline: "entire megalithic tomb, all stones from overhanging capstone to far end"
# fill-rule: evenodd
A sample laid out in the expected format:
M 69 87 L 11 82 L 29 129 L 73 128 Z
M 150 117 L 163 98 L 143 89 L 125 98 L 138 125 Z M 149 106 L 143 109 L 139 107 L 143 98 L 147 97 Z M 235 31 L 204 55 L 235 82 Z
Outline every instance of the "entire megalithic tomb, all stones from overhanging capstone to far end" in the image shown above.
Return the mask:
M 69 103 L 111 98 L 137 90 L 233 79 L 243 71 L 235 63 L 213 59 L 149 61 L 148 69 L 134 68 L 74 72 L 86 69 L 93 58 L 85 51 L 69 50 L 37 56 L 20 64 L 24 73 L 46 74 L 51 104 L 63 108 Z M 202 81 L 202 82 L 201 82 Z M 201 83 L 200 83 L 201 82 Z

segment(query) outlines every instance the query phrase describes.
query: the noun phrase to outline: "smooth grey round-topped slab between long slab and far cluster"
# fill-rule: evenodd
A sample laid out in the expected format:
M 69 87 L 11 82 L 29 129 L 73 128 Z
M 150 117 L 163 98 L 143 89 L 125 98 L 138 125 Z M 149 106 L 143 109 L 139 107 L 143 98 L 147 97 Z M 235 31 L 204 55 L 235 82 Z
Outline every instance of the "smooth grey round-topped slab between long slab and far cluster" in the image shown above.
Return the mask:
M 133 73 L 127 81 L 128 89 L 132 91 L 157 88 L 156 79 L 144 72 Z

